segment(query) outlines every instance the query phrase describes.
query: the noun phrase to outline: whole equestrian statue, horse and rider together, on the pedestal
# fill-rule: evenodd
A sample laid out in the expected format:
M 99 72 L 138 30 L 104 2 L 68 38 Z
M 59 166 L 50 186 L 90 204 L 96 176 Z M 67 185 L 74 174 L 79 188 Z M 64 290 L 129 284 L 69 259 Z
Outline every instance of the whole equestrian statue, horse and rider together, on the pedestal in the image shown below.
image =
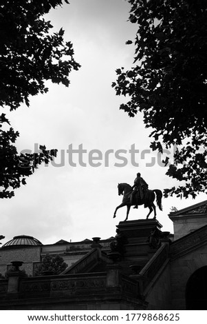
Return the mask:
M 162 191 L 159 189 L 149 190 L 149 185 L 141 177 L 140 172 L 137 173 L 134 184 L 131 187 L 128 183 L 119 183 L 118 184 L 118 194 L 119 196 L 123 194 L 122 203 L 116 207 L 116 210 L 113 214 L 113 218 L 116 217 L 116 212 L 120 207 L 127 206 L 127 217 L 124 221 L 127 221 L 129 216 L 129 210 L 131 206 L 134 205 L 134 208 L 138 208 L 138 205 L 144 205 L 144 208 L 149 207 L 149 213 L 146 215 L 146 219 L 149 218 L 149 215 L 154 210 L 154 219 L 156 218 L 156 207 L 153 201 L 156 202 L 157 206 L 162 210 Z

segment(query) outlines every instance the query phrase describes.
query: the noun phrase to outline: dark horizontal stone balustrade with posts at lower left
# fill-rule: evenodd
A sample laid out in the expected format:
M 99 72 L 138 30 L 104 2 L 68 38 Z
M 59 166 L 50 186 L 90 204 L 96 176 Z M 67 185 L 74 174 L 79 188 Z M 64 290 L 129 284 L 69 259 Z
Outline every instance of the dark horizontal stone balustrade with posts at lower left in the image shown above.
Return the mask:
M 146 273 L 149 274 L 149 270 Z M 140 296 L 138 281 L 122 274 L 116 263 L 110 263 L 107 272 L 34 277 L 25 277 L 21 272 L 15 272 L 14 278 L 12 274 L 11 272 L 9 279 L 0 281 L 1 303 L 7 303 L 8 300 L 33 303 L 37 299 L 47 302 L 50 298 L 53 301 L 56 298 L 66 298 L 69 302 L 74 301 L 74 298 L 111 299 L 114 296 L 137 299 Z M 3 304 L 0 308 L 1 306 Z

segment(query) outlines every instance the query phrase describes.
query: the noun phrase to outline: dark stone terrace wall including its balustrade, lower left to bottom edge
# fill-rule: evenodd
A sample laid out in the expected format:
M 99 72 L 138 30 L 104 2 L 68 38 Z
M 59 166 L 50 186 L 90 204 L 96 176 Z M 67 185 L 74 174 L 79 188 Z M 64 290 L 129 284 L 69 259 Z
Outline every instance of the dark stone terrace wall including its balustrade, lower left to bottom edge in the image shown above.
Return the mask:
M 108 272 L 32 278 L 17 270 L 0 285 L 0 310 L 146 309 L 146 303 L 138 298 L 138 283 L 117 276 L 116 265 Z

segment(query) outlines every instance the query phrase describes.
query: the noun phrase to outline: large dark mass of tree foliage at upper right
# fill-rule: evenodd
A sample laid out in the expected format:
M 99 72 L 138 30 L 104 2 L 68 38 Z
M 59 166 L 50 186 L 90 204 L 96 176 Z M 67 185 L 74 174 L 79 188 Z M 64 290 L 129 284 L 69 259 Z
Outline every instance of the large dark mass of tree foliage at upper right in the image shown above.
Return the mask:
M 174 146 L 166 174 L 182 181 L 164 196 L 195 198 L 207 181 L 207 3 L 205 0 L 129 0 L 129 20 L 138 24 L 136 65 L 119 68 L 112 83 L 117 95 L 129 96 L 120 109 L 144 114 L 152 128 L 151 148 Z M 127 41 L 127 44 L 132 41 Z

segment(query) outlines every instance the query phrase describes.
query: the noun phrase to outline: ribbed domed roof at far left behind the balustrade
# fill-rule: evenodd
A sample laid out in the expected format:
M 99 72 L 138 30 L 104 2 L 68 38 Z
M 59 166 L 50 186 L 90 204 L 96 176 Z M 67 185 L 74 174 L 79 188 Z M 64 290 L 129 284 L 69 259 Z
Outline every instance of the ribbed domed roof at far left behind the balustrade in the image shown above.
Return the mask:
M 39 246 L 43 245 L 39 240 L 34 239 L 32 236 L 28 235 L 19 235 L 14 236 L 14 239 L 8 241 L 7 243 L 3 244 L 1 249 L 3 248 L 14 248 L 14 247 L 32 247 L 32 246 Z

